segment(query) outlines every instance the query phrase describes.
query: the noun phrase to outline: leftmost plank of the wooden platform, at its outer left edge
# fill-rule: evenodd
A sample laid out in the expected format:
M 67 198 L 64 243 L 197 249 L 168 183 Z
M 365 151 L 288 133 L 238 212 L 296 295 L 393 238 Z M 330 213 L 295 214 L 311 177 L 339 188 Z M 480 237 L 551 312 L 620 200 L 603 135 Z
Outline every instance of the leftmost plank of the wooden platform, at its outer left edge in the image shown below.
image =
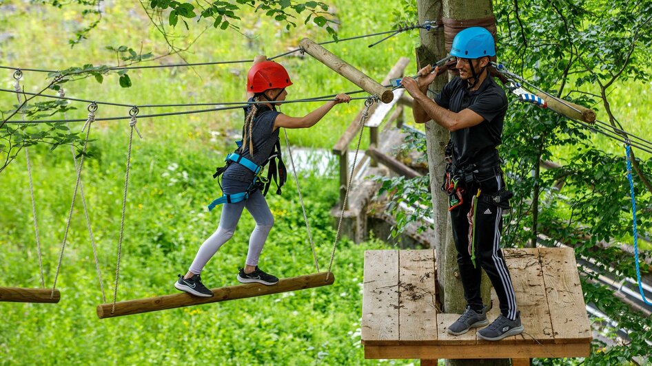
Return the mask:
M 367 250 L 363 285 L 363 344 L 398 344 L 398 250 Z

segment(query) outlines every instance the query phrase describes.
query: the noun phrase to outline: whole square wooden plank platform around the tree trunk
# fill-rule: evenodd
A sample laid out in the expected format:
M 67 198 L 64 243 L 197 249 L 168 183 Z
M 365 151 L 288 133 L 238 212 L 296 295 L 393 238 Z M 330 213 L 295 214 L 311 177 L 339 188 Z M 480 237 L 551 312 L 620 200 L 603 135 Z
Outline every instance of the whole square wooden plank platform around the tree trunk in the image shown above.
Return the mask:
M 584 357 L 591 326 L 571 248 L 506 249 L 525 333 L 498 342 L 446 332 L 459 314 L 436 308 L 434 250 L 367 250 L 362 343 L 365 358 Z M 462 289 L 460 288 L 460 291 Z M 498 316 L 492 297 L 489 321 Z

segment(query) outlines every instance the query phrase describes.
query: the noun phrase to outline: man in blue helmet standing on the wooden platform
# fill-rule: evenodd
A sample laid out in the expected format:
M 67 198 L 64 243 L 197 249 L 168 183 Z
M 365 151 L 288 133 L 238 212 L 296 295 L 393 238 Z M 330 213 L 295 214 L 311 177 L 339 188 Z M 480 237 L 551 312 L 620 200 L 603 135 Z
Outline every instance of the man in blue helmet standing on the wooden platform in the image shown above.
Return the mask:
M 509 271 L 500 250 L 502 209 L 509 208 L 511 193 L 505 190 L 496 147 L 501 143 L 502 122 L 507 111 L 505 91 L 489 76 L 489 56 L 496 56 L 493 36 L 485 28 L 459 32 L 451 47 L 460 77 L 451 80 L 431 100 L 426 92 L 438 67 L 427 65 L 419 77 L 401 83 L 414 98 L 414 120 L 434 120 L 451 131 L 446 148 L 447 175 L 442 189 L 449 193 L 453 238 L 467 308 L 449 334 L 460 335 L 472 327 L 489 324 L 480 296 L 483 268 L 500 301 L 500 316 L 478 336 L 500 341 L 520 334 L 523 326 Z

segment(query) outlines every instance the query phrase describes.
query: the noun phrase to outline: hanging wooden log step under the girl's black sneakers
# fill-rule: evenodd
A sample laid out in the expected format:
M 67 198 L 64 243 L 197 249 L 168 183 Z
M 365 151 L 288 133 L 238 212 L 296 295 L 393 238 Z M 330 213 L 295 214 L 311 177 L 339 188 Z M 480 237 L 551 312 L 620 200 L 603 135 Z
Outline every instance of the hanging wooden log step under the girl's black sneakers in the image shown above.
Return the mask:
M 121 301 L 115 304 L 115 309 L 113 309 L 113 303 L 105 303 L 98 305 L 97 316 L 99 316 L 100 319 L 105 319 L 115 316 L 155 312 L 158 310 L 183 308 L 191 305 L 245 299 L 247 297 L 257 297 L 268 294 L 278 294 L 280 292 L 332 285 L 335 281 L 333 273 L 330 273 L 328 279 L 326 279 L 326 274 L 327 272 L 320 272 L 315 273 L 314 275 L 303 275 L 299 277 L 280 279 L 278 280 L 278 283 L 273 286 L 265 286 L 261 283 L 245 283 L 238 286 L 214 288 L 211 290 L 213 292 L 213 297 L 194 297 L 191 294 L 183 292 L 179 294 L 149 297 L 147 299 Z

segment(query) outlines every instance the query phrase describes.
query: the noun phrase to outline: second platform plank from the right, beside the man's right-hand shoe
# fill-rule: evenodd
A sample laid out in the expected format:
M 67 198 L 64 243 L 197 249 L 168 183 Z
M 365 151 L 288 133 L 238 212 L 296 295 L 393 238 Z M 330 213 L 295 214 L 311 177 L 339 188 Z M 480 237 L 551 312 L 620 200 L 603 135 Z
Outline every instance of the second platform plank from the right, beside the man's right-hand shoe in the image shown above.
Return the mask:
M 516 336 L 516 343 L 554 343 L 538 248 L 505 250 L 505 260 L 527 333 Z

